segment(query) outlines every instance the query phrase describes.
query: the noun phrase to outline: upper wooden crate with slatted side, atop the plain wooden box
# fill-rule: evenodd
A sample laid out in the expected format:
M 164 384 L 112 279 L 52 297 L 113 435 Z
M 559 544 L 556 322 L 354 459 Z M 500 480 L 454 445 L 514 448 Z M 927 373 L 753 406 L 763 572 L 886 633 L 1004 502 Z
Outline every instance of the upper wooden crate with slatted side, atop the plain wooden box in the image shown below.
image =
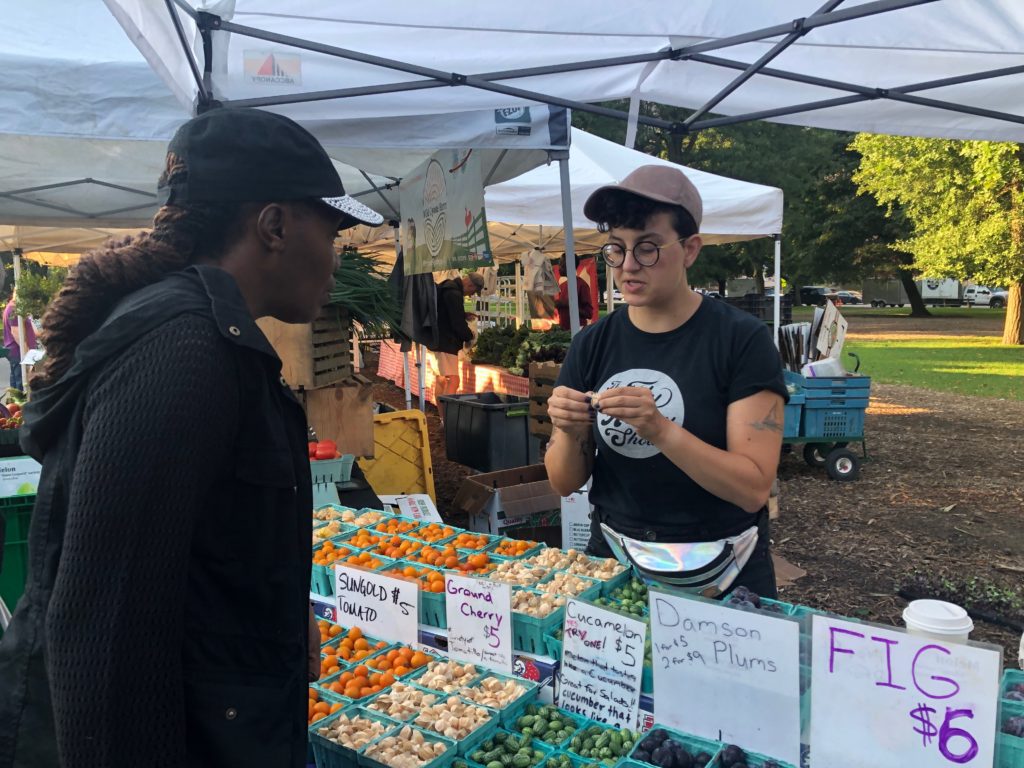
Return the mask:
M 257 321 L 281 357 L 281 373 L 294 389 L 316 389 L 352 376 L 352 322 L 338 307 L 325 307 L 312 323 Z

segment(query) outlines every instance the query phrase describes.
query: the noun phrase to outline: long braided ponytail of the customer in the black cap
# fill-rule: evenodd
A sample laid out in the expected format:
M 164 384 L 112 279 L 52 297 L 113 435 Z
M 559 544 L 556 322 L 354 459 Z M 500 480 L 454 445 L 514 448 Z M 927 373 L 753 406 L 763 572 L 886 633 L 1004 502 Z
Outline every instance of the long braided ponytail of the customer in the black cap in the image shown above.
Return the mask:
M 160 183 L 173 182 L 185 172 L 184 163 L 168 155 Z M 165 205 L 157 211 L 153 229 L 112 240 L 82 256 L 43 315 L 40 340 L 46 356 L 35 367 L 32 386 L 55 384 L 71 368 L 76 347 L 124 297 L 223 253 L 241 236 L 242 223 L 255 205 Z

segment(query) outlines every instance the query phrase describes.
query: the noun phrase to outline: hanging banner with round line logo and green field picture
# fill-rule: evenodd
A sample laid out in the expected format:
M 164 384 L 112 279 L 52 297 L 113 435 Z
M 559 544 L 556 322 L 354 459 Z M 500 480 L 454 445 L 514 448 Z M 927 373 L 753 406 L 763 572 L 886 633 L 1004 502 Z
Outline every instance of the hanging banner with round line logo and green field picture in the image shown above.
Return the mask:
M 480 159 L 442 150 L 398 186 L 406 274 L 490 266 Z

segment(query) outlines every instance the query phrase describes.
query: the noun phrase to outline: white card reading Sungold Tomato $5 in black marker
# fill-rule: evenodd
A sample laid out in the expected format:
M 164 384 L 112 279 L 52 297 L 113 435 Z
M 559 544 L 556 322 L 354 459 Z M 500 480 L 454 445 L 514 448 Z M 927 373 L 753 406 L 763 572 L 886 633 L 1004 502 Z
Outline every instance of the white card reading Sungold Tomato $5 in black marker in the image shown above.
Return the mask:
M 413 645 L 420 639 L 420 587 L 411 580 L 348 565 L 334 566 L 335 622 L 381 640 Z

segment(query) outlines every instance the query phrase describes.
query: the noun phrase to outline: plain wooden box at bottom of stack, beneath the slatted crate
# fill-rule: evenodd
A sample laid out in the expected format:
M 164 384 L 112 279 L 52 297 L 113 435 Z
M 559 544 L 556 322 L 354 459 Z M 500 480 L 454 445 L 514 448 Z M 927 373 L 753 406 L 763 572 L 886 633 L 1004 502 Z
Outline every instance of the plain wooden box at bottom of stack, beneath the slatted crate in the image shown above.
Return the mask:
M 306 421 L 322 440 L 334 440 L 342 454 L 374 455 L 374 392 L 369 379 L 356 374 L 345 381 L 295 393 Z

